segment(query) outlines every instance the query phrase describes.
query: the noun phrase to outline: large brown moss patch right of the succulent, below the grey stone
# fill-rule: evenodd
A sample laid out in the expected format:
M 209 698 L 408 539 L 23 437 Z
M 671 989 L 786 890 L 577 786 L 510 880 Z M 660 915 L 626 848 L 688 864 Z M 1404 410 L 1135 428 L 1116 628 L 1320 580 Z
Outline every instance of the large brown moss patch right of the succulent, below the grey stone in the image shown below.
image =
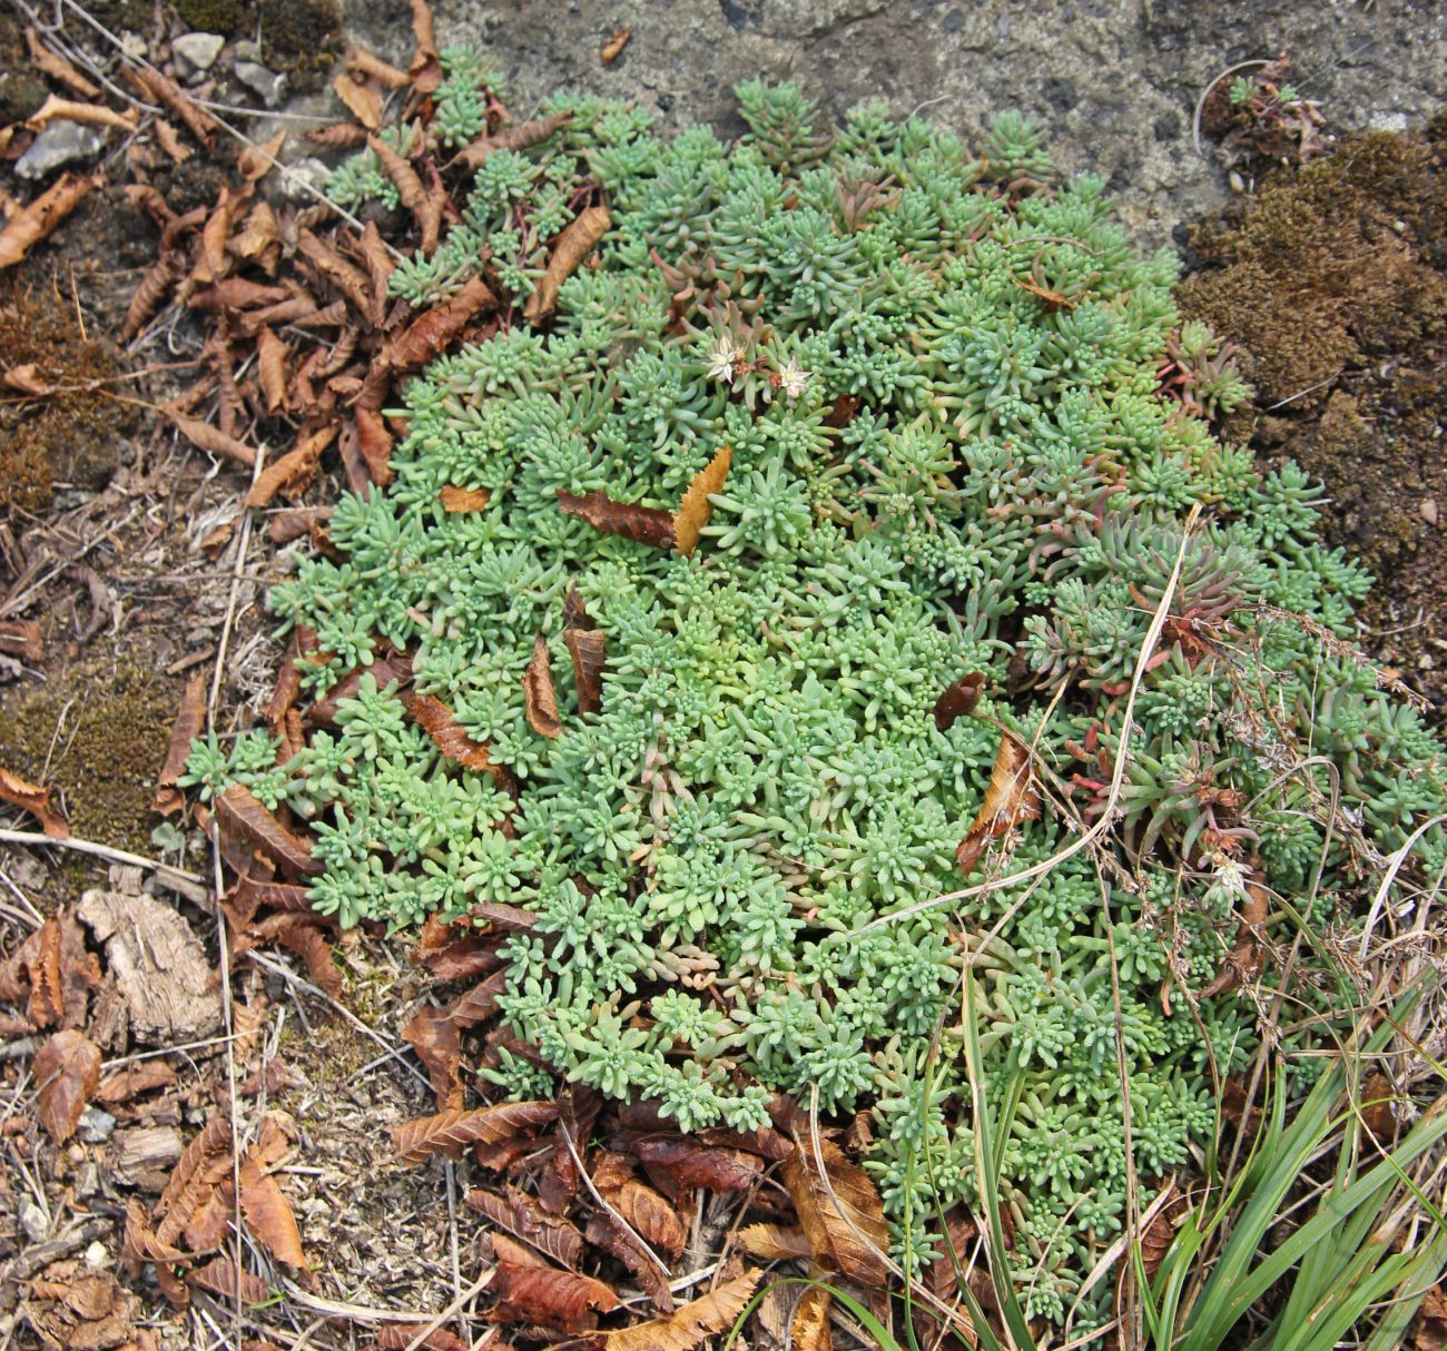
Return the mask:
M 1182 311 L 1246 349 L 1270 459 L 1327 485 L 1324 525 L 1378 576 L 1382 660 L 1447 704 L 1447 119 L 1347 142 L 1201 226 Z M 1255 424 L 1255 425 L 1253 425 Z

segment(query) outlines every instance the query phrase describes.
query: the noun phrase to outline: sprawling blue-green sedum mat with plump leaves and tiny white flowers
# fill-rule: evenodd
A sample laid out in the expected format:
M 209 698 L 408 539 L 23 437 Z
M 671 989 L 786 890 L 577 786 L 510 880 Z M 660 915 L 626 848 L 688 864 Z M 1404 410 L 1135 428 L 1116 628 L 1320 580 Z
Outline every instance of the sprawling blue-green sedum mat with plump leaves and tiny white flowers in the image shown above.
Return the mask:
M 456 146 L 492 77 L 444 67 L 427 135 Z M 738 94 L 734 145 L 559 97 L 551 137 L 482 161 L 392 285 L 436 304 L 485 272 L 495 331 L 407 386 L 394 482 L 271 594 L 318 697 L 389 654 L 411 690 L 383 665 L 288 762 L 258 730 L 197 745 L 191 781 L 310 822 L 346 924 L 525 910 L 502 1008 L 548 1069 L 505 1057 L 505 1092 L 567 1079 L 684 1131 L 757 1127 L 776 1089 L 873 1112 L 910 1269 L 977 1201 L 968 968 L 1022 1297 L 1079 1329 L 1108 1316 L 1111 1282 L 1078 1295 L 1126 1215 L 1127 1095 L 1134 1176 L 1188 1166 L 1289 917 L 1317 946 L 1360 927 L 1362 869 L 1443 810 L 1440 746 L 1351 647 L 1370 579 L 1318 542 L 1317 487 L 1214 438 L 1243 388 L 1098 178 L 1061 182 L 1013 114 L 971 150 L 880 104 L 828 135 L 789 85 Z M 350 203 L 383 189 L 366 155 Z M 611 226 L 530 324 L 589 203 Z M 725 447 L 689 557 L 566 496 L 671 512 Z M 599 651 L 601 699 L 573 678 Z M 530 719 L 540 660 L 559 735 Z M 958 683 L 980 699 L 951 717 Z M 1001 745 L 1033 748 L 1033 787 L 959 851 Z M 1433 829 L 1406 868 L 1444 862 Z M 1288 1049 L 1328 1044 L 1343 991 L 1292 981 Z

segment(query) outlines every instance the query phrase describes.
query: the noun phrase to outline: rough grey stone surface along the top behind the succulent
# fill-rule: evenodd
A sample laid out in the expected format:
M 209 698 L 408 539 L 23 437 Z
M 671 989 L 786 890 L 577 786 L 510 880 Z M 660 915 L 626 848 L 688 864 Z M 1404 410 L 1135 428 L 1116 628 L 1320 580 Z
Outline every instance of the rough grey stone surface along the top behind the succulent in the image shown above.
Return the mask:
M 437 39 L 475 42 L 508 77 L 521 120 L 560 85 L 629 97 L 666 126 L 741 129 L 731 90 L 793 80 L 832 119 L 861 98 L 974 139 L 1007 107 L 1045 124 L 1068 171 L 1092 169 L 1149 244 L 1230 195 L 1197 153 L 1205 85 L 1237 61 L 1292 58 L 1292 80 L 1333 129 L 1421 124 L 1447 93 L 1447 7 L 1431 0 L 434 0 Z M 411 32 L 392 4 L 353 0 L 349 41 L 404 68 Z M 599 46 L 632 38 L 603 67 Z M 1404 54 L 1411 54 L 1409 59 Z

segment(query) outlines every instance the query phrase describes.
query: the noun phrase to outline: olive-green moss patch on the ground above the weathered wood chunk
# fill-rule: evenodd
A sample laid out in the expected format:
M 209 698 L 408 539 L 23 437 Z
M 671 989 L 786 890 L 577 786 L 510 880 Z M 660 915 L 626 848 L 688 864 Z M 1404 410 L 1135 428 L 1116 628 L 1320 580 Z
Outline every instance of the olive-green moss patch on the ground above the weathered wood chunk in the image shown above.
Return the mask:
M 75 835 L 152 852 L 150 798 L 178 689 L 126 648 L 0 699 L 0 765 L 61 788 Z

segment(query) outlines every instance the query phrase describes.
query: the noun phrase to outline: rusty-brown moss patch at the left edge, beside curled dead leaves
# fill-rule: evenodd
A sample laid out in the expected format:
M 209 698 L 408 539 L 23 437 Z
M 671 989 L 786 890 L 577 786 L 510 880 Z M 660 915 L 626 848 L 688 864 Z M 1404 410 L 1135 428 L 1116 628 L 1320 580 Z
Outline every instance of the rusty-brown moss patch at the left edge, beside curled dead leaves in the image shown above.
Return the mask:
M 0 298 L 0 351 L 7 367 L 33 365 L 36 379 L 56 391 L 0 398 L 0 509 L 42 506 L 56 480 L 103 487 L 135 421 L 135 409 L 104 386 L 82 388 L 120 372 L 110 350 L 81 333 L 69 307 L 36 288 Z

